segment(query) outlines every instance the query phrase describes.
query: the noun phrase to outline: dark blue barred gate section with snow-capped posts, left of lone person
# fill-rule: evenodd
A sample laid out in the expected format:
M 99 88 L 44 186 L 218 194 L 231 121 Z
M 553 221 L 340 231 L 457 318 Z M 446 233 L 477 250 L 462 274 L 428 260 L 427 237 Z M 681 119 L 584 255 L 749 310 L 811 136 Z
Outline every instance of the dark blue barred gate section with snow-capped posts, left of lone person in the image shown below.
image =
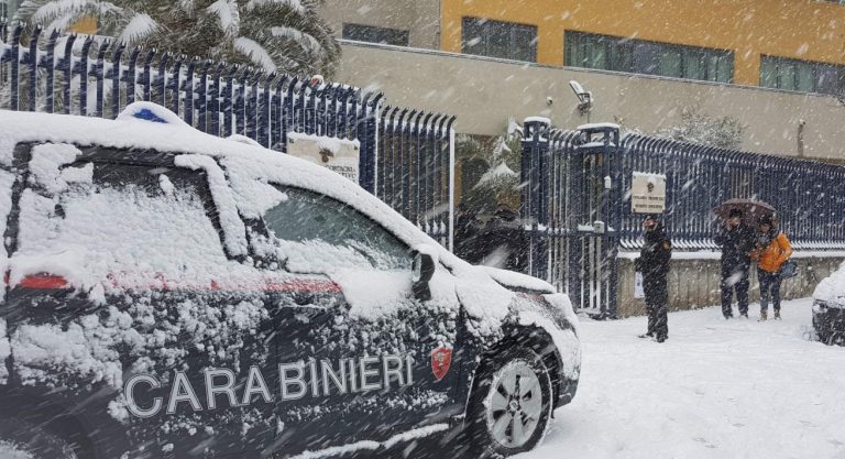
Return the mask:
M 524 127 L 522 218 L 529 273 L 597 317 L 616 314 L 619 190 L 612 184 L 618 142 L 612 125 L 561 131 L 529 118 Z

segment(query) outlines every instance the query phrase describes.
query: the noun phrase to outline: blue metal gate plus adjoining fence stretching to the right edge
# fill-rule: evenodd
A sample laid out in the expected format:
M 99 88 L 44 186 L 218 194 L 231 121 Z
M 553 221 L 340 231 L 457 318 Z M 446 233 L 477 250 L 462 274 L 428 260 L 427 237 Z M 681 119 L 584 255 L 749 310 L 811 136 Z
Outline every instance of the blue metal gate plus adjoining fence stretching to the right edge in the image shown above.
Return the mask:
M 636 173 L 666 176 L 666 229 L 676 251 L 717 249 L 713 209 L 753 198 L 778 210 L 799 250 L 845 250 L 845 167 L 644 135 L 613 124 L 577 131 L 526 120 L 522 218 L 529 273 L 568 292 L 581 309 L 616 312 L 621 250 L 643 244 L 644 215 L 632 206 Z

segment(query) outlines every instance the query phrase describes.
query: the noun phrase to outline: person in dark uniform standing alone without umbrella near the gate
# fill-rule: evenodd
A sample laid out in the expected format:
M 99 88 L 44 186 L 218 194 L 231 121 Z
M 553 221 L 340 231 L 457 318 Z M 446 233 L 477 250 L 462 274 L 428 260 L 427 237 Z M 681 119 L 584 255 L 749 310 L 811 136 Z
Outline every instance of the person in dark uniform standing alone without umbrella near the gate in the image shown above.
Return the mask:
M 640 338 L 652 337 L 657 342 L 663 342 L 669 338 L 667 316 L 669 289 L 666 277 L 669 274 L 669 261 L 672 258 L 672 243 L 663 233 L 663 223 L 658 216 L 648 216 L 643 225 L 646 229 L 646 241 L 639 258 L 635 261 L 635 266 L 643 273 L 648 330 L 645 335 L 640 335 Z

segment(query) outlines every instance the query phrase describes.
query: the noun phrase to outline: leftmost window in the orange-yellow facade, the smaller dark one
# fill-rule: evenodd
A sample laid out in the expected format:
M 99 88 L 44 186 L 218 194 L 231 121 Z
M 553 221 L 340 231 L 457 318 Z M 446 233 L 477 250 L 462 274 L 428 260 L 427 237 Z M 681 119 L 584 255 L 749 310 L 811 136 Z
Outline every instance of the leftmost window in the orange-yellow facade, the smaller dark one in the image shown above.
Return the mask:
M 537 28 L 463 18 L 461 45 L 464 54 L 537 62 Z

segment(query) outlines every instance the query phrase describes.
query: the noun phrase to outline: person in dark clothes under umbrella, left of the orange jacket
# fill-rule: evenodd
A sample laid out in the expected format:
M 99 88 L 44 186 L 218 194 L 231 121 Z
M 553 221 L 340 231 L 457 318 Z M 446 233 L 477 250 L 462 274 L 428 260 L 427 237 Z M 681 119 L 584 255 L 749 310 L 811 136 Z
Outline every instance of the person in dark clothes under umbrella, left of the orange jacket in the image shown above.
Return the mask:
M 743 222 L 743 211 L 731 209 L 727 220 L 714 238 L 722 248 L 722 315 L 734 317 L 733 300 L 739 306 L 739 316 L 748 318 L 748 270 L 751 266 L 750 252 L 755 244 L 754 228 Z

